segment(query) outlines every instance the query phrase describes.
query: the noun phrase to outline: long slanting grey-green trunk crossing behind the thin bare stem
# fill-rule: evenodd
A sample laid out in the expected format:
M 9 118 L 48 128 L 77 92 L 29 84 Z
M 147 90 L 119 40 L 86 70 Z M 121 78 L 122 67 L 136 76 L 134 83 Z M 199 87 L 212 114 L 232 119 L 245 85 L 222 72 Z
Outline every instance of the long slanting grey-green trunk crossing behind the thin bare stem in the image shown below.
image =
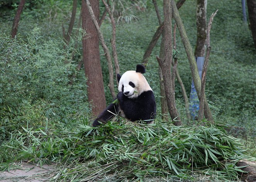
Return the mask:
M 193 77 L 193 80 L 194 80 L 194 83 L 195 83 L 195 88 L 197 90 L 197 95 L 200 95 L 200 92 L 201 92 L 201 80 L 200 80 L 200 77 L 199 77 L 199 74 L 198 74 L 198 71 L 197 71 L 197 63 L 195 62 L 195 57 L 193 55 L 192 47 L 190 45 L 188 37 L 186 36 L 186 30 L 185 30 L 185 27 L 184 27 L 184 25 L 182 23 L 180 15 L 178 13 L 178 9 L 175 6 L 174 0 L 171 0 L 171 5 L 172 5 L 171 7 L 172 7 L 172 10 L 173 10 L 173 16 L 175 18 L 175 22 L 176 22 L 178 30 L 180 32 L 181 41 L 182 41 L 182 43 L 183 43 L 183 45 L 185 47 L 186 54 L 188 56 L 192 77 Z M 212 112 L 210 111 L 210 107 L 208 105 L 206 96 L 204 96 L 204 97 L 205 97 L 205 99 L 204 99 L 204 114 L 205 114 L 205 118 L 213 121 Z

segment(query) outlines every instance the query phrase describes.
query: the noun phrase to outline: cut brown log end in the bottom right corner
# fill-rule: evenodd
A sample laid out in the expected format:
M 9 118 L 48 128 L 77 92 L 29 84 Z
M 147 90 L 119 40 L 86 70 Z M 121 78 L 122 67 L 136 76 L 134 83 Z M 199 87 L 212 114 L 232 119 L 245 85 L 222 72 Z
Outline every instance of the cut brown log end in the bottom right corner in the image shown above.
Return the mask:
M 241 180 L 245 182 L 255 182 L 256 181 L 256 162 L 249 160 L 239 160 L 236 163 L 237 167 L 247 166 L 241 168 L 241 170 L 247 173 L 241 173 Z

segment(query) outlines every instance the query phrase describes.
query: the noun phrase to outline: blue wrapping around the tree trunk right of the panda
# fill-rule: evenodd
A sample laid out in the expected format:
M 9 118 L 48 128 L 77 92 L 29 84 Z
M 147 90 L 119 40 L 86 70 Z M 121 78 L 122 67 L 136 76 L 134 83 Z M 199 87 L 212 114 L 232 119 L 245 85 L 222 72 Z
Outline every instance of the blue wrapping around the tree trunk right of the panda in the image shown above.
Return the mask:
M 195 60 L 197 62 L 197 70 L 199 73 L 199 77 L 201 79 L 204 57 L 195 57 Z M 198 100 L 198 96 L 197 96 L 197 90 L 195 90 L 193 78 L 192 78 L 192 85 L 191 85 L 191 91 L 190 91 L 189 110 L 190 110 L 190 115 L 191 115 L 192 119 L 197 120 L 198 119 L 198 110 L 199 110 L 199 100 Z

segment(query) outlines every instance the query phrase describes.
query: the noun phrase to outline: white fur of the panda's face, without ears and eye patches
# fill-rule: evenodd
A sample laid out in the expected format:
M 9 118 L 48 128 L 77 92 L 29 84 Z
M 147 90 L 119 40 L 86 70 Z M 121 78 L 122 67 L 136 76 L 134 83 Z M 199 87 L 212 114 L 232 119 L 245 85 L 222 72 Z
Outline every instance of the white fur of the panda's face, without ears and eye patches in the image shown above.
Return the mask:
M 131 87 L 129 82 L 134 83 L 135 87 Z M 125 95 L 128 98 L 137 98 L 142 92 L 152 90 L 146 78 L 136 71 L 127 71 L 122 75 L 118 86 L 119 92 L 122 92 L 122 85 L 124 85 L 124 93 L 129 92 L 128 95 Z

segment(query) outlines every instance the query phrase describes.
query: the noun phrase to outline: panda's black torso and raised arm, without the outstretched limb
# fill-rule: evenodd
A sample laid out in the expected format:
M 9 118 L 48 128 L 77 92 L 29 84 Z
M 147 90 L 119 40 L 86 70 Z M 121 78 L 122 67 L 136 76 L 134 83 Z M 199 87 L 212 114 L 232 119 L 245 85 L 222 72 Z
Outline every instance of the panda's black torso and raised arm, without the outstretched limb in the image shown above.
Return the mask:
M 122 92 L 117 94 L 120 108 L 131 121 L 151 120 L 156 114 L 156 102 L 151 90 L 143 92 L 136 99 L 129 99 Z M 151 121 L 147 121 L 149 123 Z

